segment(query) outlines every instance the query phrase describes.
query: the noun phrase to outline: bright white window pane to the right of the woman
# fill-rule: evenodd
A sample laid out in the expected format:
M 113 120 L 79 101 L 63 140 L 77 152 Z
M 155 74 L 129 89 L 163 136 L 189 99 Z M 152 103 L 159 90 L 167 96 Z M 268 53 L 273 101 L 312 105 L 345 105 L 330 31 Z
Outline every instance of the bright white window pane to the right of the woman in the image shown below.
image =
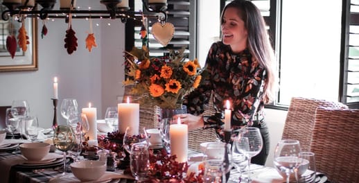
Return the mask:
M 327 2 L 282 3 L 279 104 L 292 96 L 338 101 L 342 2 Z

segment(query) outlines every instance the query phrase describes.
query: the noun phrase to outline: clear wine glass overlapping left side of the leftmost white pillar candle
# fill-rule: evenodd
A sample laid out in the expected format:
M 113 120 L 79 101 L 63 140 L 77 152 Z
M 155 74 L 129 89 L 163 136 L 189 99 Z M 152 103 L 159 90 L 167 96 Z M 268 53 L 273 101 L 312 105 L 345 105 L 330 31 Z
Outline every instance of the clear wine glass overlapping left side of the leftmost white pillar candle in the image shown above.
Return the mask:
M 69 116 L 68 123 L 71 126 L 73 132 L 75 133 L 76 143 L 73 144 L 71 153 L 75 155 L 75 161 L 78 160 L 78 155 L 82 151 L 82 134 L 88 132 L 89 122 L 87 121 L 87 116 L 84 113 L 73 113 Z

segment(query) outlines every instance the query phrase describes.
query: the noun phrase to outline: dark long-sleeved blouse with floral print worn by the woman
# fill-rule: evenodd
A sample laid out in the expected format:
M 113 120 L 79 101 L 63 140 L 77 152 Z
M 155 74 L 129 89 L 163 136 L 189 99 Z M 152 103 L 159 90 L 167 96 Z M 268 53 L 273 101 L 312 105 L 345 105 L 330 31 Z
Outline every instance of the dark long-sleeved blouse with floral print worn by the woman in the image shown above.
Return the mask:
M 265 69 L 248 49 L 232 53 L 228 45 L 213 43 L 207 55 L 200 86 L 184 98 L 191 114 L 202 114 L 213 92 L 216 114 L 204 116 L 204 128 L 216 128 L 222 136 L 226 101 L 231 103 L 231 128 L 245 125 L 260 128 L 263 121 Z

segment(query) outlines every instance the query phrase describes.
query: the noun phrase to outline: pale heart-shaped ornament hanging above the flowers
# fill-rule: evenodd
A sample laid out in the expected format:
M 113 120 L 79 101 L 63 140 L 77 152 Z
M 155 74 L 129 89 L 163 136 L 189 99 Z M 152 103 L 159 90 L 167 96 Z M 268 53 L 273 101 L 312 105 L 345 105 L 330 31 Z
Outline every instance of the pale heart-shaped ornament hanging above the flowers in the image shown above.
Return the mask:
M 157 42 L 162 44 L 162 46 L 167 46 L 167 44 L 172 40 L 173 34 L 175 33 L 175 26 L 166 22 L 161 24 L 156 22 L 152 24 L 152 35 L 155 37 Z

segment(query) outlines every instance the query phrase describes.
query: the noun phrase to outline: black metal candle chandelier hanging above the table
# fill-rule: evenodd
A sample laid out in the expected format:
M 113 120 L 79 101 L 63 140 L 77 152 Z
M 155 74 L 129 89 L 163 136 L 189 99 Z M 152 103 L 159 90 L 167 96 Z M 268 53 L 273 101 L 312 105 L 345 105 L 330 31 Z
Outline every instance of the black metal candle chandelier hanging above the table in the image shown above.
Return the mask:
M 119 18 L 124 23 L 126 19 L 137 17 L 157 17 L 159 21 L 165 22 L 167 15 L 166 0 L 141 0 L 143 7 L 147 10 L 146 15 L 143 12 L 130 10 L 129 0 L 100 0 L 100 3 L 106 6 L 107 10 L 76 10 L 76 0 L 60 0 L 60 9 L 54 10 L 56 0 L 3 0 L 3 5 L 8 8 L 1 14 L 1 19 L 8 20 L 10 17 L 35 17 L 40 19 L 65 19 L 69 16 L 72 19 L 103 19 Z M 40 7 L 41 6 L 41 7 Z M 23 17 L 25 16 L 25 17 Z

